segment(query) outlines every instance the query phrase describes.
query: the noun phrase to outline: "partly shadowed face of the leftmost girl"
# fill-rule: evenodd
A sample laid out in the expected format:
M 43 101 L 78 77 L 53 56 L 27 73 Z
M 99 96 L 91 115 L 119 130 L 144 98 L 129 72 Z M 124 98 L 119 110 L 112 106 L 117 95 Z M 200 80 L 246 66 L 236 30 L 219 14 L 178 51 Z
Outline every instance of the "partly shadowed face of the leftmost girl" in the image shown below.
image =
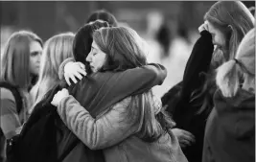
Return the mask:
M 33 41 L 30 44 L 30 72 L 39 75 L 42 47 L 39 42 Z

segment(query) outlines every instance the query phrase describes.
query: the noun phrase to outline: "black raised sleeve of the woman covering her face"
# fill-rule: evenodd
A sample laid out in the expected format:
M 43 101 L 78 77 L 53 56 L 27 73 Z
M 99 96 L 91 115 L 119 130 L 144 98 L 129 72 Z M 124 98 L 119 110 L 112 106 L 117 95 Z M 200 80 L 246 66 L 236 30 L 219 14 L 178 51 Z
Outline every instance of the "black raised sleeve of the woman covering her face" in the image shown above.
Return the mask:
M 191 93 L 200 85 L 199 74 L 209 70 L 213 51 L 212 35 L 202 31 L 186 64 L 181 90 L 182 101 L 189 101 Z

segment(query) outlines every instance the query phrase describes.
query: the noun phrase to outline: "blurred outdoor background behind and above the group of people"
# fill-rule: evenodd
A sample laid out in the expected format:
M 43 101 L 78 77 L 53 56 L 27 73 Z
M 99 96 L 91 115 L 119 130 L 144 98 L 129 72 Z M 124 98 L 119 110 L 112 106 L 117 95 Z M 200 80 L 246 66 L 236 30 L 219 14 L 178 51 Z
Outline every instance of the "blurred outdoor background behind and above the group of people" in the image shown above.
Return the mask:
M 203 15 L 216 1 L 1 1 L 1 53 L 13 32 L 30 30 L 44 41 L 62 32 L 74 32 L 91 12 L 105 9 L 120 25 L 129 26 L 149 44 L 149 61 L 166 66 L 168 76 L 154 88 L 162 96 L 182 80 L 184 67 Z M 247 8 L 255 1 L 242 1 Z M 253 12 L 254 13 L 254 12 Z

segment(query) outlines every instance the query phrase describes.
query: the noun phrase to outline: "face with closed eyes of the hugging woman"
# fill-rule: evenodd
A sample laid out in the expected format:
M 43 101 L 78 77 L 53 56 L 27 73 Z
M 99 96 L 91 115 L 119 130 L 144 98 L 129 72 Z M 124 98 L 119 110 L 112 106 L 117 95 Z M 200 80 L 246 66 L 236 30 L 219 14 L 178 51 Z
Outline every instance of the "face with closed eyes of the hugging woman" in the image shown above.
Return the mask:
M 106 54 L 100 50 L 95 41 L 92 42 L 91 51 L 86 58 L 90 63 L 90 68 L 93 73 L 98 72 L 105 64 Z

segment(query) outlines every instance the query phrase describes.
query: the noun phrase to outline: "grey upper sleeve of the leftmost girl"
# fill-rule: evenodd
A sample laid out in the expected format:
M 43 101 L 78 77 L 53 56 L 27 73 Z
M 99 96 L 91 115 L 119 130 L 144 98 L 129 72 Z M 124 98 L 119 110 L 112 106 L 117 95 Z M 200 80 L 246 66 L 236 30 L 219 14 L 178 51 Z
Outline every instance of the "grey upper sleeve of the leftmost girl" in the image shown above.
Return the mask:
M 7 139 L 15 135 L 17 127 L 21 127 L 19 117 L 16 111 L 16 104 L 11 99 L 1 99 L 1 128 Z

